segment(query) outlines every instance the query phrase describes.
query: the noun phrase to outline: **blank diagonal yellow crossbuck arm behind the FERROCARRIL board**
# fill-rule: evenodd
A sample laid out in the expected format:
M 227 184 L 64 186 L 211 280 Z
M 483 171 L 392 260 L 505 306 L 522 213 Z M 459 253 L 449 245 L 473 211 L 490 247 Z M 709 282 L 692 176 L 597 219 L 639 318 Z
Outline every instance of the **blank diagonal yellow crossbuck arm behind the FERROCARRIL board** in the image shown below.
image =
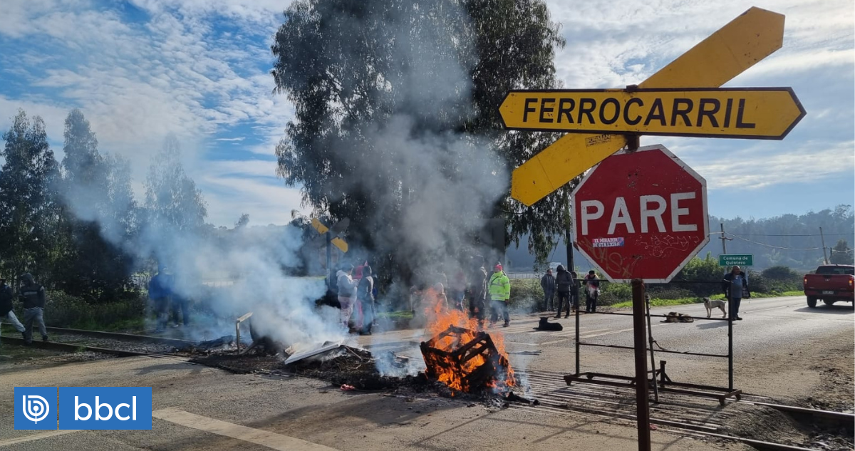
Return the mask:
M 639 88 L 717 88 L 780 49 L 783 39 L 783 15 L 748 9 L 654 73 Z M 510 195 L 532 205 L 625 145 L 624 135 L 564 135 L 514 170 Z

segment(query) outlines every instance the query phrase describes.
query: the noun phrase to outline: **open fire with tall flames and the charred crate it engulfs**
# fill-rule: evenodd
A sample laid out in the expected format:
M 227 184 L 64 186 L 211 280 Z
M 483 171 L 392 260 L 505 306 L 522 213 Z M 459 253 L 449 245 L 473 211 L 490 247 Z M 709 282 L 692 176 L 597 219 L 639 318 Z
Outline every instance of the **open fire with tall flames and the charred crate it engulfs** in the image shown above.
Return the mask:
M 433 338 L 421 345 L 428 378 L 468 393 L 489 387 L 504 394 L 516 385 L 501 334 L 479 331 L 476 319 L 441 303 L 428 318 Z

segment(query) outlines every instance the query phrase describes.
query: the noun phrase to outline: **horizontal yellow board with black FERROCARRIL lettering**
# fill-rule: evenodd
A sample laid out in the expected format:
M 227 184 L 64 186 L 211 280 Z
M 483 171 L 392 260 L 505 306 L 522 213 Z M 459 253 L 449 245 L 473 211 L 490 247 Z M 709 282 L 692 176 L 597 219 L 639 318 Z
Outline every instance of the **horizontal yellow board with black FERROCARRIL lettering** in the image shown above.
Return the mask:
M 753 139 L 805 116 L 790 88 L 510 91 L 499 112 L 511 130 Z

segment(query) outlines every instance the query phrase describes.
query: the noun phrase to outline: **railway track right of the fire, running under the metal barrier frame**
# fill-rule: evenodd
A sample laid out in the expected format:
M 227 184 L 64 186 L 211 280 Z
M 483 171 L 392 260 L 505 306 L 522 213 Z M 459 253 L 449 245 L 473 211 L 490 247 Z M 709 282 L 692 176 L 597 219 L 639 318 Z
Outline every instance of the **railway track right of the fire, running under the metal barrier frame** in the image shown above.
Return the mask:
M 540 405 L 517 406 L 519 408 L 558 415 L 587 413 L 630 422 L 636 419 L 634 389 L 594 384 L 568 386 L 564 382 L 564 374 L 557 372 L 531 372 L 520 376 L 529 386 L 526 395 L 536 398 L 540 401 Z M 740 401 L 728 401 L 728 404 L 722 407 L 708 399 L 668 393 L 660 395 L 659 403 L 651 402 L 650 422 L 658 430 L 677 435 L 733 440 L 758 449 L 800 451 L 822 449 L 806 448 L 799 443 L 769 442 L 748 436 L 734 436 L 730 432 L 728 425 L 744 422 L 746 414 L 752 414 L 752 410 L 768 408 L 786 413 L 803 424 L 826 425 L 836 430 L 843 428 L 851 437 L 852 427 L 855 425 L 855 415 L 852 413 L 787 406 L 771 401 L 764 396 L 742 395 Z

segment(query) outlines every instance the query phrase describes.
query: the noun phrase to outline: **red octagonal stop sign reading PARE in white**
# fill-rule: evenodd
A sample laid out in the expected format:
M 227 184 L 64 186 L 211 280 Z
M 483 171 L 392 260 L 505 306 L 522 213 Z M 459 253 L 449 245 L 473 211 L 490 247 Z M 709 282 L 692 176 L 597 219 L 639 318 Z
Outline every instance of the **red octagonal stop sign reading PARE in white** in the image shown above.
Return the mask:
M 601 161 L 572 203 L 575 248 L 612 282 L 668 283 L 710 241 L 706 181 L 663 145 Z

